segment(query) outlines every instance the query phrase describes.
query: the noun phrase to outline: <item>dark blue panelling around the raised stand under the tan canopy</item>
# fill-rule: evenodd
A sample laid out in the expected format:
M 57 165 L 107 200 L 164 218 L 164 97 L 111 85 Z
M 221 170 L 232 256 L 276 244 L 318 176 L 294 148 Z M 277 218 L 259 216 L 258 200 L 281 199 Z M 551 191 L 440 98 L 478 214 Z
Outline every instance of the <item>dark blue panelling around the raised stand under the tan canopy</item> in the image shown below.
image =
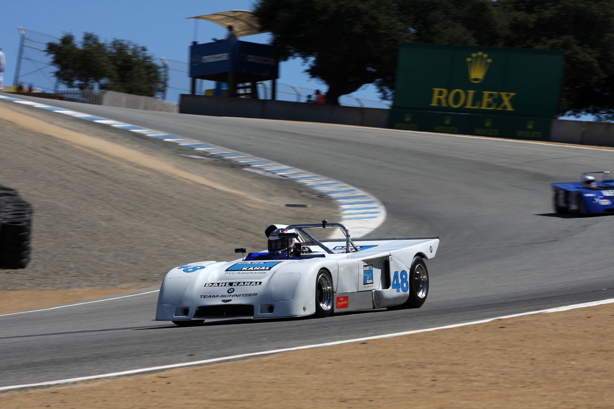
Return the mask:
M 190 77 L 237 72 L 260 79 L 278 78 L 273 47 L 239 40 L 224 40 L 190 46 Z

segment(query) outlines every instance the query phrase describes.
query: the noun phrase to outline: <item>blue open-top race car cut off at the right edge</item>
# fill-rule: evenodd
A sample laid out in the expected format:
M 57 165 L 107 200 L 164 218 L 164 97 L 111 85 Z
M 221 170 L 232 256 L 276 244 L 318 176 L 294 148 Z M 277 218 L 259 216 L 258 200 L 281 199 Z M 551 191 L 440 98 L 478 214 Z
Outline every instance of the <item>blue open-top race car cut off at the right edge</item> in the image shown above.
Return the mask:
M 594 175 L 600 175 L 597 180 Z M 556 213 L 614 213 L 614 179 L 610 172 L 586 172 L 581 182 L 553 183 Z

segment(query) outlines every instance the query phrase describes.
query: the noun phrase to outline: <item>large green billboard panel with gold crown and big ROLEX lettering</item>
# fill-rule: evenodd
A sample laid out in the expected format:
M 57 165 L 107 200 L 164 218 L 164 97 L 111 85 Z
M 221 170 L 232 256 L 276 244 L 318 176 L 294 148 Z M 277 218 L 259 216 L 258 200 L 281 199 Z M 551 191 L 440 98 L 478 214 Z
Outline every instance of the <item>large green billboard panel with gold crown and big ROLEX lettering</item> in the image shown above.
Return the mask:
M 402 43 L 392 108 L 556 118 L 564 53 Z

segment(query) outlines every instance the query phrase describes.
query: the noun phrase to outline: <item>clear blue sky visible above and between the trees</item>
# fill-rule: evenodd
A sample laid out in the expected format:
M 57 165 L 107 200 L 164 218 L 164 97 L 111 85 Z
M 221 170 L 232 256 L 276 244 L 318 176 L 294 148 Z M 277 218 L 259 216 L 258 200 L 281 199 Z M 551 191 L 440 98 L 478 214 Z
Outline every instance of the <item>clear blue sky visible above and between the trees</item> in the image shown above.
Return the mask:
M 119 38 L 144 45 L 157 58 L 187 61 L 188 45 L 194 36 L 194 20 L 187 20 L 187 17 L 227 10 L 251 10 L 252 3 L 252 0 L 0 0 L 0 46 L 7 60 L 4 83 L 12 85 L 15 73 L 18 26 L 56 37 L 72 32 L 79 39 L 84 31 L 90 31 L 103 40 Z M 209 42 L 212 37 L 221 38 L 224 34 L 222 26 L 198 20 L 199 43 Z M 269 34 L 241 39 L 266 43 Z M 278 81 L 310 90 L 327 88 L 303 71 L 305 66 L 301 61 L 292 59 L 281 64 Z M 172 74 L 176 88 L 189 88 L 189 80 L 183 77 L 184 74 L 174 71 Z M 205 85 L 208 86 L 211 85 Z M 177 101 L 178 94 L 184 92 L 169 90 L 167 99 Z M 352 96 L 379 99 L 372 85 L 363 86 Z M 591 120 L 590 117 L 569 119 Z

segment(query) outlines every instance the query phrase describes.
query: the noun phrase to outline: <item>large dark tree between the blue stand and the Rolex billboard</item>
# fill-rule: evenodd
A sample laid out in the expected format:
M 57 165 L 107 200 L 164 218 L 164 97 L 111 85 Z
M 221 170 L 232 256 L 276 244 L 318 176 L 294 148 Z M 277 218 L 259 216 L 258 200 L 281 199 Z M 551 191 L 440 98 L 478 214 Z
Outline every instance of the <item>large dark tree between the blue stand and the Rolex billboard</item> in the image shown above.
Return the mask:
M 302 58 L 328 84 L 327 103 L 338 104 L 395 65 L 398 43 L 410 39 L 397 11 L 392 0 L 261 0 L 254 14 L 279 58 Z

